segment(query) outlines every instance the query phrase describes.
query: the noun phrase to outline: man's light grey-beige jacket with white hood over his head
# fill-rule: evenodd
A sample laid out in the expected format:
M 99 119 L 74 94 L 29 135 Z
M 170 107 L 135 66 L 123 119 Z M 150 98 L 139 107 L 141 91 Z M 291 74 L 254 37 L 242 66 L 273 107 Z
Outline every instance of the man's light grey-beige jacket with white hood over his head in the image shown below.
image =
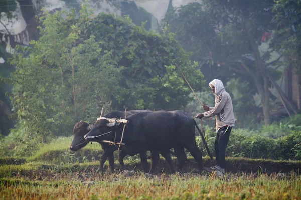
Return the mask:
M 214 79 L 209 86 L 215 87 L 215 106 L 210 107 L 209 111 L 204 113 L 204 117 L 209 118 L 215 115 L 216 131 L 223 126 L 233 127 L 235 123 L 233 105 L 230 95 L 225 91 L 224 84 L 218 79 Z

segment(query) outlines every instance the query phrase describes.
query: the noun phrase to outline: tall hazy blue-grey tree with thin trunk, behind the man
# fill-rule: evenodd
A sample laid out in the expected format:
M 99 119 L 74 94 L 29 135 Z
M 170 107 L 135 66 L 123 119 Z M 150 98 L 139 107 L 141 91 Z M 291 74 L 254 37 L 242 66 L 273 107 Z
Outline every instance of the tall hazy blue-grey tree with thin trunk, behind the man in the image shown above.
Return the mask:
M 271 23 L 273 5 L 273 0 L 204 0 L 202 5 L 181 7 L 176 13 L 180 28 L 174 28 L 178 38 L 184 38 L 183 42 L 195 48 L 199 59 L 212 60 L 211 66 L 220 66 L 215 68 L 217 74 L 221 71 L 229 80 L 235 73 L 251 81 L 250 85 L 255 86 L 260 96 L 265 125 L 271 123 L 270 78 L 277 72 L 271 67 L 272 63 L 267 63 L 272 50 L 261 54 L 259 46 L 265 41 L 261 41 L 262 35 L 270 36 L 269 32 L 275 28 Z M 198 11 L 187 11 L 194 9 Z M 194 37 L 198 39 L 194 41 Z

